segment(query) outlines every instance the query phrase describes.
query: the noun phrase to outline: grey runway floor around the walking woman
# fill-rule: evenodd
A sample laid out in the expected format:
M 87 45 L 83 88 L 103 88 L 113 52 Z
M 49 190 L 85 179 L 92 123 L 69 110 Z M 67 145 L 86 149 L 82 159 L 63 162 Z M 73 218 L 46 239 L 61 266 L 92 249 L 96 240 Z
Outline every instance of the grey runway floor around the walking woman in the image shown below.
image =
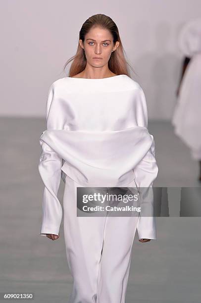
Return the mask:
M 36 303 L 67 303 L 72 277 L 63 225 L 58 240 L 39 236 L 44 189 L 39 137 L 45 129 L 44 119 L 0 118 L 0 292 L 33 292 Z M 171 124 L 151 121 L 149 130 L 159 167 L 154 186 L 201 187 L 198 163 Z M 61 181 L 61 203 L 63 189 Z M 126 303 L 200 303 L 201 218 L 156 222 L 156 241 L 140 243 L 135 235 Z

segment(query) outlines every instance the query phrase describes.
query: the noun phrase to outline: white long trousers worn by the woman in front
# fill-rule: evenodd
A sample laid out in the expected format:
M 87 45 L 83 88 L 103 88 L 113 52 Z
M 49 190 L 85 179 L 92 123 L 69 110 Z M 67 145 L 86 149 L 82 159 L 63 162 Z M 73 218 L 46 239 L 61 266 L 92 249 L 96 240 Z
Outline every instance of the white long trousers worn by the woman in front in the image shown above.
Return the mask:
M 73 277 L 68 303 L 125 303 L 139 217 L 77 217 L 76 192 L 82 186 L 68 175 L 65 182 L 64 241 Z

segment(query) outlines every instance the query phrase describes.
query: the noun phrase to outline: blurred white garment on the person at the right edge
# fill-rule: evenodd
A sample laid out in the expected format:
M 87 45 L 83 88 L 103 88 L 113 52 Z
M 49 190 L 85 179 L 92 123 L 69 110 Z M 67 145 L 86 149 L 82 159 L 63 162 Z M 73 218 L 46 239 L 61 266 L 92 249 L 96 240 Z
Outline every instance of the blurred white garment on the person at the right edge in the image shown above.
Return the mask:
M 172 117 L 175 134 L 201 160 L 201 19 L 185 24 L 179 35 L 179 49 L 191 57 L 185 70 Z

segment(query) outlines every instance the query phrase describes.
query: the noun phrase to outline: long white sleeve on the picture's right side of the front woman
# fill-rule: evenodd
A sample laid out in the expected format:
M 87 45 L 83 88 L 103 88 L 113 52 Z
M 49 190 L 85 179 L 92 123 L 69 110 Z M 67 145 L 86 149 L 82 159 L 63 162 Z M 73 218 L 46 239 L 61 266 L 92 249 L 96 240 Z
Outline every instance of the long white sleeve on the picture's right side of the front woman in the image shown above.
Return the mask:
M 148 128 L 147 102 L 143 89 L 140 87 L 136 95 L 136 120 L 138 126 Z M 135 166 L 134 173 L 137 187 L 141 191 L 141 209 L 137 231 L 139 239 L 156 240 L 156 222 L 153 214 L 154 201 L 152 183 L 157 177 L 158 167 L 155 160 L 155 143 L 152 138 L 152 145 L 143 159 Z M 149 216 L 144 216 L 149 213 Z

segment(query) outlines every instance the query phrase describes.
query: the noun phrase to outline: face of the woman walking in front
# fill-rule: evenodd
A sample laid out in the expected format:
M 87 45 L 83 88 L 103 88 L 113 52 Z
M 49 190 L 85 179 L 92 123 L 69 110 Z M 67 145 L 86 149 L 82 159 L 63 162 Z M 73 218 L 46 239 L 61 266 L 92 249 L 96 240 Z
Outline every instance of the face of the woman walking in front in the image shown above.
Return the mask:
M 112 50 L 116 50 L 119 42 L 113 44 L 113 37 L 106 29 L 93 28 L 85 36 L 84 44 L 79 40 L 81 48 L 85 50 L 87 62 L 94 67 L 108 63 Z

